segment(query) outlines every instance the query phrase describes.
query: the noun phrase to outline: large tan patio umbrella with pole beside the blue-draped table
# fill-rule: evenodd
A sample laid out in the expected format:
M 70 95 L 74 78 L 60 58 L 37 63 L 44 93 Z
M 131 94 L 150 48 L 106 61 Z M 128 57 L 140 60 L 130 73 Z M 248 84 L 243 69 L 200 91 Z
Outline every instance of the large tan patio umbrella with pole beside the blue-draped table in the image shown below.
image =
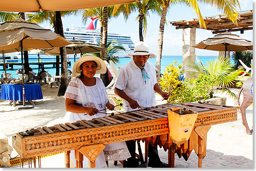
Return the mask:
M 53 33 L 37 24 L 19 18 L 15 21 L 4 22 L 0 26 L 0 52 L 21 52 L 21 65 L 23 71 L 23 50 L 64 47 L 71 44 L 64 37 Z M 23 77 L 22 77 L 23 83 Z M 23 84 L 24 87 L 24 84 Z M 23 105 L 25 105 L 23 88 Z

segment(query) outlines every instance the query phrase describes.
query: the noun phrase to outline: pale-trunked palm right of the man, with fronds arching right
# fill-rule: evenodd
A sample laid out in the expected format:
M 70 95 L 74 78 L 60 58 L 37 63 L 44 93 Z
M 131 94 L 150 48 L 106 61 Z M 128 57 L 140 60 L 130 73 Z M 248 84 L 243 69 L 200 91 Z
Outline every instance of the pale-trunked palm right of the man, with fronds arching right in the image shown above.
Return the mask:
M 200 9 L 198 7 L 197 2 L 207 3 L 211 4 L 212 6 L 215 6 L 218 10 L 223 11 L 223 15 L 228 16 L 229 20 L 233 23 L 237 23 L 238 13 L 236 11 L 236 4 L 240 7 L 238 0 L 232 0 L 232 1 L 226 1 L 226 0 L 159 0 L 159 3 L 162 7 L 162 14 L 161 14 L 161 20 L 160 20 L 160 26 L 159 26 L 159 39 L 158 39 L 158 45 L 157 45 L 157 55 L 156 55 L 156 78 L 157 80 L 160 79 L 161 75 L 161 58 L 162 58 L 162 48 L 163 48 L 163 31 L 164 31 L 164 24 L 166 23 L 166 14 L 167 10 L 172 4 L 176 3 L 184 3 L 188 5 L 189 7 L 193 8 L 196 12 L 199 23 L 201 28 L 206 28 L 205 22 L 203 20 L 203 17 L 201 15 Z

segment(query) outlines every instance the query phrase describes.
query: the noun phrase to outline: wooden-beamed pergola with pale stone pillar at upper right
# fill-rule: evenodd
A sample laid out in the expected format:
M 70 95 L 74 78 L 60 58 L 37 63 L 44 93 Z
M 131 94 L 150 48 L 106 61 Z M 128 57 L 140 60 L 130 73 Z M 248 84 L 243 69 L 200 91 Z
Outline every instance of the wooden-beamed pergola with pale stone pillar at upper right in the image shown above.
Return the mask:
M 223 33 L 225 31 L 240 31 L 242 34 L 244 30 L 253 29 L 253 10 L 240 11 L 237 25 L 231 22 L 227 16 L 223 15 L 204 17 L 204 22 L 206 29 L 211 30 L 212 34 Z M 170 24 L 175 26 L 176 29 L 182 29 L 182 64 L 187 59 L 194 60 L 195 49 L 192 46 L 196 44 L 196 29 L 202 29 L 200 28 L 199 19 L 173 21 Z M 219 53 L 219 55 L 223 54 L 224 52 Z M 229 58 L 229 53 L 227 54 Z

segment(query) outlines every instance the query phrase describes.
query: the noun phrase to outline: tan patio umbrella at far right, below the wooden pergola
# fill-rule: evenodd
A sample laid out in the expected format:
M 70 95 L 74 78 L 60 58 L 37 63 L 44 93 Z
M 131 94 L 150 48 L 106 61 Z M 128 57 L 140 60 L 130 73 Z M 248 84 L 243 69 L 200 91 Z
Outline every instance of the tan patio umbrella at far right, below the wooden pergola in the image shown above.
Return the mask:
M 192 47 L 207 50 L 225 51 L 226 56 L 227 51 L 252 50 L 253 43 L 226 31 L 224 33 L 217 34 L 212 38 L 208 38 Z

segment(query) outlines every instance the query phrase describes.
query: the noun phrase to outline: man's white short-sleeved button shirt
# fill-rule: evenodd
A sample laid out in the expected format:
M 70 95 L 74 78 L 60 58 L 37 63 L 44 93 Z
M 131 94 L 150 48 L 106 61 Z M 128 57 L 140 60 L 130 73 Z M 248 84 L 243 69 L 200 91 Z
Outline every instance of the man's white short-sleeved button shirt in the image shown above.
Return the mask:
M 118 71 L 115 87 L 123 90 L 127 96 L 136 100 L 141 107 L 152 107 L 156 105 L 154 85 L 157 84 L 156 72 L 153 64 L 149 61 L 144 66 L 150 79 L 143 81 L 142 71 L 133 59 Z M 129 103 L 124 100 L 124 112 L 132 111 Z M 138 110 L 138 109 L 135 109 Z

